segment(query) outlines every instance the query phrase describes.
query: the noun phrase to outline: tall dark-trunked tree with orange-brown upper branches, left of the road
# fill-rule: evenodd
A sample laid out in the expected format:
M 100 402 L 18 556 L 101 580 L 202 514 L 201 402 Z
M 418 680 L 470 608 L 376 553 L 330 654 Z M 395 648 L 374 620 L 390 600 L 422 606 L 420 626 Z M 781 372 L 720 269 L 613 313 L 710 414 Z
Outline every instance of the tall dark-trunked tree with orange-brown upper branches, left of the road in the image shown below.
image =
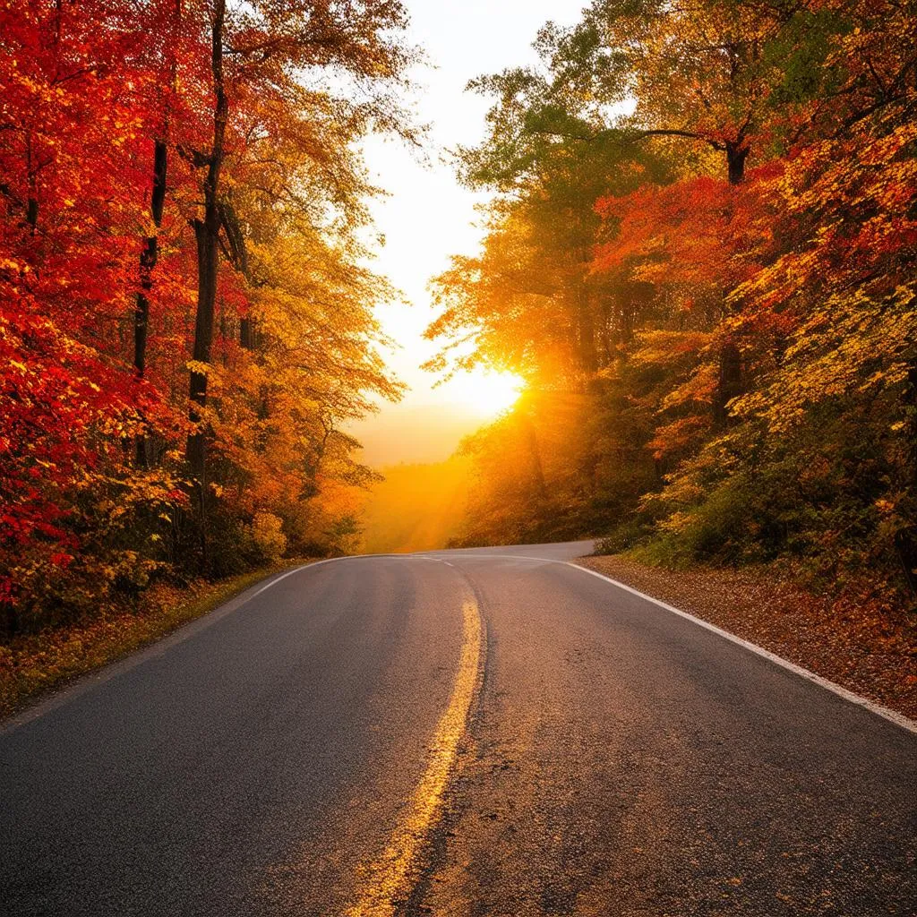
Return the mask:
M 293 3 L 277 6 L 255 3 L 227 14 L 225 0 L 214 0 L 209 10 L 210 71 L 213 128 L 204 148 L 186 149 L 185 155 L 201 173 L 203 200 L 193 215 L 197 247 L 197 306 L 190 365 L 187 460 L 201 508 L 202 547 L 205 556 L 204 505 L 206 500 L 206 438 L 204 408 L 214 337 L 217 267 L 221 231 L 239 267 L 245 260 L 243 227 L 233 214 L 224 189 L 227 156 L 243 170 L 251 149 L 269 139 L 285 146 L 290 160 L 280 163 L 280 180 L 293 185 L 299 161 L 326 162 L 332 152 L 312 145 L 315 134 L 304 130 L 304 116 L 314 105 L 314 94 L 297 82 L 299 72 L 336 70 L 370 93 L 368 102 L 340 106 L 350 120 L 347 142 L 371 118 L 394 123 L 388 87 L 400 78 L 408 55 L 391 38 L 403 25 L 400 6 L 388 2 L 360 5 Z M 379 87 L 379 88 L 377 88 Z M 274 107 L 274 117 L 257 120 L 257 129 L 227 137 L 230 119 L 244 123 L 245 106 L 260 113 Z M 238 110 L 236 108 L 238 106 Z M 278 117 L 277 114 L 282 114 Z M 341 138 L 337 139 L 338 143 Z M 340 151 L 336 146 L 334 151 Z M 284 166 L 286 174 L 283 174 Z M 288 195 L 290 196 L 290 195 Z

